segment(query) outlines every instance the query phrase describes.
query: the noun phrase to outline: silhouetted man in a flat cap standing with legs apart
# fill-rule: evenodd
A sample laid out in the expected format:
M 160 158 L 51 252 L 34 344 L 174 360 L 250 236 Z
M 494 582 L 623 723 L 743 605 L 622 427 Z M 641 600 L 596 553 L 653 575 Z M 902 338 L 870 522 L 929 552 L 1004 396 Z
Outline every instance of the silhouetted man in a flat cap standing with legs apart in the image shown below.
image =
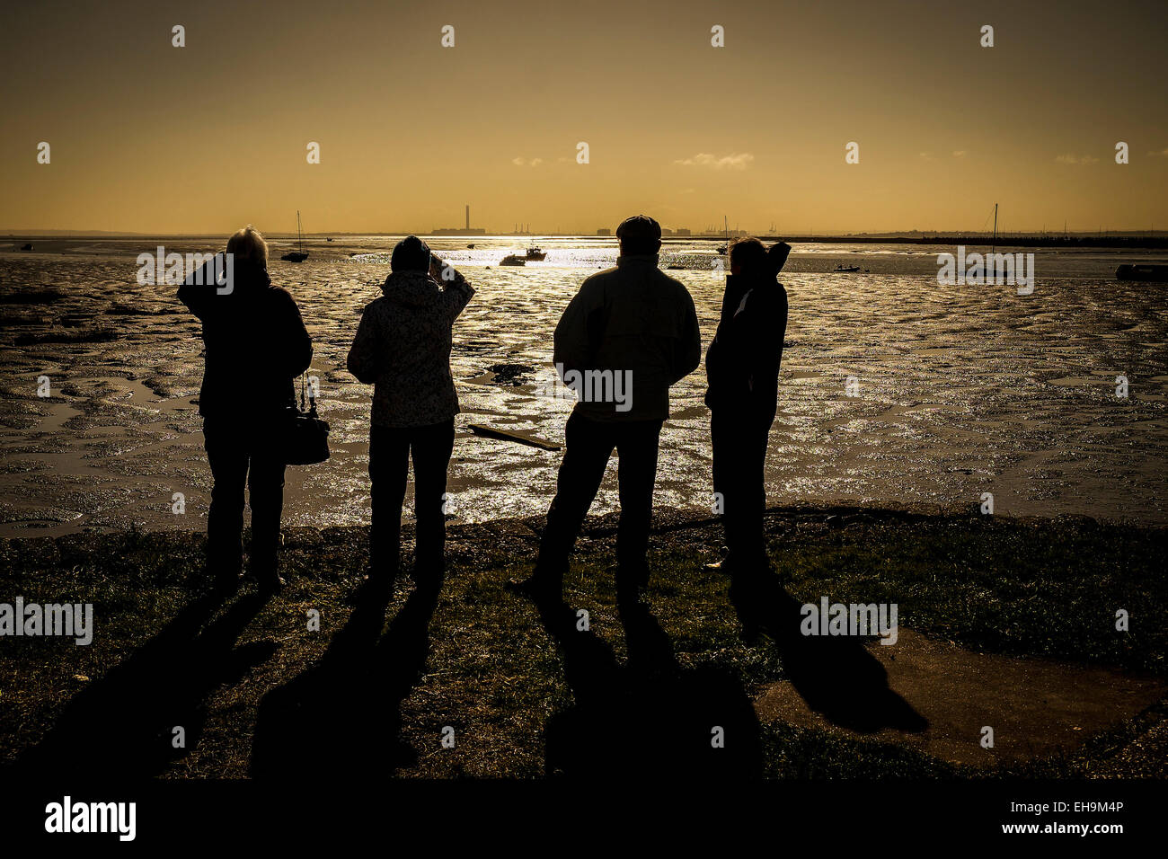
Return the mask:
M 694 299 L 658 268 L 661 226 L 637 215 L 617 228 L 617 266 L 588 278 L 556 326 L 556 372 L 578 402 L 564 429 L 566 450 L 535 573 L 510 583 L 536 601 L 559 598 L 568 556 L 614 448 L 617 590 L 635 601 L 648 581 L 645 555 L 669 387 L 702 359 Z

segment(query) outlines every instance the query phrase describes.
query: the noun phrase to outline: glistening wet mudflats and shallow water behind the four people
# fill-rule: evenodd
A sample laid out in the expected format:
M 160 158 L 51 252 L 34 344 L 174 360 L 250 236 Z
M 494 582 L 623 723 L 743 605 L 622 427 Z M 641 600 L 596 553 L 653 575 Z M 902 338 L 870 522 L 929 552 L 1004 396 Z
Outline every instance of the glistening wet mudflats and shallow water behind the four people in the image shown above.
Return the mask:
M 46 240 L 33 252 L 0 242 L 0 299 L 65 293 L 0 304 L 0 535 L 206 527 L 210 474 L 192 402 L 202 375 L 199 324 L 173 286 L 135 282 L 137 255 L 160 241 L 168 251 L 214 250 L 206 240 Z M 392 241 L 314 240 L 303 264 L 280 262 L 286 242 L 272 243 L 272 277 L 296 296 L 314 338 L 311 372 L 333 428 L 329 462 L 288 469 L 286 525 L 369 520 L 371 389 L 348 375 L 345 358 L 361 309 L 380 295 Z M 500 269 L 524 240 L 475 238 L 474 250 L 466 241 L 432 242 L 478 289 L 454 328 L 457 424 L 562 442 L 571 402 L 551 393 L 551 331 L 580 280 L 613 264 L 616 248 L 536 237 L 545 262 Z M 703 348 L 724 283 L 711 268 L 715 244 L 670 243 L 661 261 L 684 266 L 670 273 L 694 296 Z M 1008 285 L 939 286 L 945 250 L 953 249 L 823 244 L 792 254 L 769 503 L 975 506 L 989 492 L 1004 515 L 1168 521 L 1168 288 L 1113 279 L 1121 262 L 1164 255 L 1030 249 L 1037 282 L 1020 297 Z M 863 270 L 833 272 L 840 263 Z M 50 334 L 88 341 L 37 342 Z M 505 372 L 496 377 L 492 367 Z M 47 400 L 36 395 L 42 375 Z M 1115 395 L 1119 375 L 1127 399 Z M 848 376 L 857 396 L 846 393 Z M 704 381 L 698 368 L 674 388 L 658 505 L 709 510 Z M 465 520 L 542 514 L 558 462 L 559 453 L 460 429 L 451 510 Z M 614 478 L 613 463 L 593 512 L 616 510 Z M 172 512 L 175 493 L 182 514 Z

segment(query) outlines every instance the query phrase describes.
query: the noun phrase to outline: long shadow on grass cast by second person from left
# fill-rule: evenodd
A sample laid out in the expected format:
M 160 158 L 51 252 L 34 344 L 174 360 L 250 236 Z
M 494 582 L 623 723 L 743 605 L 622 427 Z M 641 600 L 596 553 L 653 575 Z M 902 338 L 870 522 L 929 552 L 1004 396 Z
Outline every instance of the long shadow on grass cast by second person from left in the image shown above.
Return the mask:
M 412 767 L 401 705 L 430 652 L 440 581 L 418 586 L 382 636 L 389 595 L 367 588 L 325 656 L 264 695 L 251 748 L 257 778 L 384 776 Z M 324 783 L 324 782 L 322 782 Z

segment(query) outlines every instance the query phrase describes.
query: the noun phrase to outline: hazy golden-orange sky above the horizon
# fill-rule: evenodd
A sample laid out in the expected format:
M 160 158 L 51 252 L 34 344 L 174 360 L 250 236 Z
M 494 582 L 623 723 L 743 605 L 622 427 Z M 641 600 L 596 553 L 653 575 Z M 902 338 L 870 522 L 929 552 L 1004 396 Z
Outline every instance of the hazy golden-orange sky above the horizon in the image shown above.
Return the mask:
M 9 6 L 0 228 L 1168 229 L 1166 7 Z

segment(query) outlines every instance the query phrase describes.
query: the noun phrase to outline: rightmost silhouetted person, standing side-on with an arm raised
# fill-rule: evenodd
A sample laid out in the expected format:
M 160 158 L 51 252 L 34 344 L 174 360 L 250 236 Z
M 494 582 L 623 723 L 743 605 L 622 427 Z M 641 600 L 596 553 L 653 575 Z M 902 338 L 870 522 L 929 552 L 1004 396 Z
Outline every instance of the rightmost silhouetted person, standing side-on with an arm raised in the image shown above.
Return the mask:
M 770 569 L 764 472 L 787 328 L 787 292 L 778 272 L 791 247 L 780 242 L 767 251 L 757 238 L 744 238 L 729 250 L 722 317 L 705 353 L 714 491 L 721 494 L 728 548 L 725 559 L 710 566 L 746 583 Z

